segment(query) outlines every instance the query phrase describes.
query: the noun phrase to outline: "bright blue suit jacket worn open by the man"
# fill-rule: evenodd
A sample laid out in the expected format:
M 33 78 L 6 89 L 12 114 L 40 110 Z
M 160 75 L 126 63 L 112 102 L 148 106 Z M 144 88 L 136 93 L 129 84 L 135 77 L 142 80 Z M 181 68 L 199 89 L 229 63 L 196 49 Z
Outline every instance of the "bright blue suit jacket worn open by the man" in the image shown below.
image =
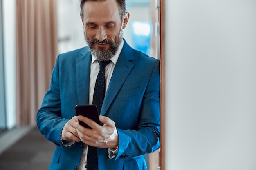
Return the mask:
M 88 104 L 91 54 L 88 47 L 58 55 L 49 90 L 37 114 L 37 125 L 56 144 L 50 170 L 76 169 L 84 144 L 64 147 L 63 126 L 76 115 L 76 104 Z M 108 159 L 98 148 L 99 170 L 146 169 L 144 154 L 160 147 L 159 60 L 132 49 L 126 42 L 121 51 L 101 115 L 117 127 L 119 152 Z

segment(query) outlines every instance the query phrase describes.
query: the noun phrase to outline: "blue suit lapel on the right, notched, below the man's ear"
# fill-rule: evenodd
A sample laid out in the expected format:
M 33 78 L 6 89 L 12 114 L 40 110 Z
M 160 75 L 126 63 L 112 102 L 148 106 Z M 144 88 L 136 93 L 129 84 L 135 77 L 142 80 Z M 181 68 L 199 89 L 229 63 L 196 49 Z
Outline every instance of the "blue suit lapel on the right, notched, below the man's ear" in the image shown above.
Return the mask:
M 108 91 L 106 92 L 106 95 L 102 104 L 101 115 L 105 115 L 110 104 L 115 99 L 115 96 L 117 95 L 119 89 L 124 84 L 126 77 L 132 71 L 134 64 L 132 64 L 130 60 L 134 60 L 132 49 L 124 41 L 124 47 L 117 60 L 117 64 L 114 68 L 112 77 L 110 79 L 110 83 L 108 85 Z

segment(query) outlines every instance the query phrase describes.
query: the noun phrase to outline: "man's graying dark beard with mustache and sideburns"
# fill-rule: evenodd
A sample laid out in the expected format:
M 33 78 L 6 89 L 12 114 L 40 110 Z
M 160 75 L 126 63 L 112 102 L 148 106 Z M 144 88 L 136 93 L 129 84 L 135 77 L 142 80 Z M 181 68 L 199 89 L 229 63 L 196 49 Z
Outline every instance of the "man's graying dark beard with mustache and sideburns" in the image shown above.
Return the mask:
M 94 43 L 99 43 L 100 41 L 97 40 L 97 39 L 88 40 L 86 38 L 84 28 L 83 28 L 83 33 L 84 33 L 85 42 L 88 44 L 90 53 L 92 55 L 94 55 L 97 58 L 97 60 L 99 60 L 99 61 L 108 61 L 112 57 L 114 57 L 114 55 L 117 53 L 119 45 L 122 42 L 122 39 L 123 39 L 123 29 L 121 29 L 119 39 L 117 40 L 117 42 L 112 42 L 112 41 L 107 40 L 107 39 L 105 39 L 101 42 L 101 43 L 109 43 L 110 44 L 110 48 L 107 51 L 105 51 L 103 47 L 98 47 L 98 50 L 96 50 L 94 48 Z

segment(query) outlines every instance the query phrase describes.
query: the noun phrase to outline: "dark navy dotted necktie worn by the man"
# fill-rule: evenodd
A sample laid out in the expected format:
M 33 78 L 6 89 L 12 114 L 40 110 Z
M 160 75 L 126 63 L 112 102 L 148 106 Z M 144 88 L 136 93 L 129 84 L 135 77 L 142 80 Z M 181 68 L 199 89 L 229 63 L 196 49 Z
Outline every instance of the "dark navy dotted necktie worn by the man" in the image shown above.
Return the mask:
M 108 61 L 99 62 L 99 73 L 96 79 L 92 104 L 95 104 L 101 113 L 101 106 L 105 97 L 105 67 L 110 63 Z M 88 146 L 87 170 L 98 170 L 98 148 Z

